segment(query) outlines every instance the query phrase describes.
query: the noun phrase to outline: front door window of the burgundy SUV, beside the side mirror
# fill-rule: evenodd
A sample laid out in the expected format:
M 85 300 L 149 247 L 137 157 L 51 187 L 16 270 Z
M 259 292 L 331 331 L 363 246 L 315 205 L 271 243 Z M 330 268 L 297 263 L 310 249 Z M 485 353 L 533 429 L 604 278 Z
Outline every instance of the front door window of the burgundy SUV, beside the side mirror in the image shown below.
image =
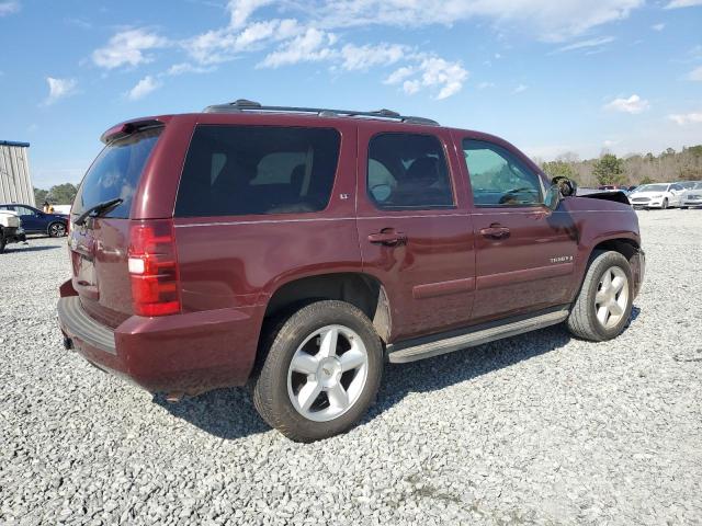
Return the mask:
M 463 153 L 476 206 L 532 206 L 543 203 L 539 175 L 505 148 L 464 139 Z

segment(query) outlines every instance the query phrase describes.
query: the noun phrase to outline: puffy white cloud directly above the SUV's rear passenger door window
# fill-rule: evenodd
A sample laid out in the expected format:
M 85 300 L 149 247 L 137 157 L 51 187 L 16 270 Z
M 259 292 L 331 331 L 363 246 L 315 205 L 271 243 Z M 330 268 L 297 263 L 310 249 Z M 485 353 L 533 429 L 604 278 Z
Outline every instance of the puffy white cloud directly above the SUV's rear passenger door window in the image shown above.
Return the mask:
M 418 55 L 420 62 L 416 66 L 404 66 L 393 71 L 384 81 L 386 84 L 403 83 L 403 91 L 409 95 L 422 88 L 434 91 L 435 99 L 448 99 L 463 89 L 468 78 L 461 62 L 451 62 L 440 57 Z

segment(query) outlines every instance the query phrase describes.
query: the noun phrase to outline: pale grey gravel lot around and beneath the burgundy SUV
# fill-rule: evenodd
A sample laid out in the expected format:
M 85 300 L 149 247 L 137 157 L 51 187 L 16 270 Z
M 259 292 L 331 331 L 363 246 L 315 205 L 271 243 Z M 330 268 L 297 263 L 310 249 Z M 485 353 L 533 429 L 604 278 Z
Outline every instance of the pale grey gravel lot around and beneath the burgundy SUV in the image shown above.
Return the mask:
M 65 241 L 0 255 L 0 524 L 700 524 L 702 210 L 639 213 L 613 342 L 563 328 L 387 368 L 312 445 L 242 389 L 168 404 L 65 352 Z

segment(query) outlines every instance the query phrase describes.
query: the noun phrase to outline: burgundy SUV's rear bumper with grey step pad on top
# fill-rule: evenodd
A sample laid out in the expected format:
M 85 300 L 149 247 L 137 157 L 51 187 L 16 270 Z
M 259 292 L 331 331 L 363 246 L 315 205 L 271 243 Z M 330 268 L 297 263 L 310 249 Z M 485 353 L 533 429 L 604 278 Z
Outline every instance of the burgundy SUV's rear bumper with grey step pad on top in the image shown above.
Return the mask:
M 61 294 L 68 287 L 61 287 Z M 256 316 L 235 309 L 141 318 L 102 325 L 78 296 L 58 300 L 65 345 L 103 370 L 151 392 L 199 393 L 246 384 L 258 346 Z

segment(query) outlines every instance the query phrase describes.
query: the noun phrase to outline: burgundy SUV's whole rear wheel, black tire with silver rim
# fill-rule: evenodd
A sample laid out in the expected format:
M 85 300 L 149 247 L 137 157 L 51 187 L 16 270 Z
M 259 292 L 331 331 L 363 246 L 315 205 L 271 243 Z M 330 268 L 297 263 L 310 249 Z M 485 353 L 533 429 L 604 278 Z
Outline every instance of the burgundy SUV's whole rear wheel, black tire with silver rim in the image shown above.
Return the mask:
M 302 307 L 279 321 L 260 351 L 268 354 L 253 404 L 269 425 L 295 442 L 348 431 L 375 400 L 383 376 L 381 339 L 371 320 L 344 301 Z

